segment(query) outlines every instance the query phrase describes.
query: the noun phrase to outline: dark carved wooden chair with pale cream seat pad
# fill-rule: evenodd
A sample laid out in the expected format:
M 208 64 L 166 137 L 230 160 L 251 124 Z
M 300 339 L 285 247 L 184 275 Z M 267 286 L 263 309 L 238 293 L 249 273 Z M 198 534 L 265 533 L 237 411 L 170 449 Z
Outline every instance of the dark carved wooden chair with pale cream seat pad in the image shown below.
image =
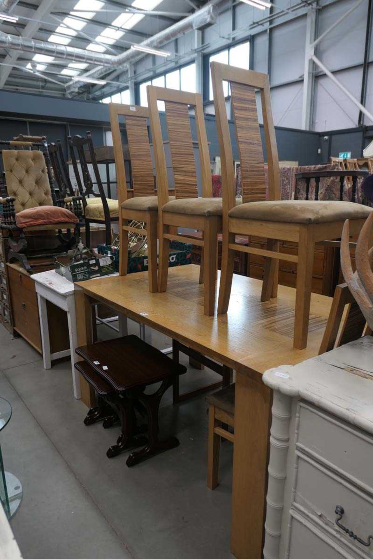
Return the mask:
M 74 136 L 74 138 L 69 136 L 68 143 L 75 180 L 77 182 L 79 194 L 82 197 L 84 223 L 86 227 L 86 245 L 88 248 L 91 248 L 91 223 L 105 225 L 105 242 L 106 244 L 111 244 L 111 224 L 119 219 L 118 201 L 107 198 L 105 190 L 103 190 L 91 132 L 87 132 L 86 138 L 82 138 L 82 136 L 79 135 Z M 98 193 L 93 190 L 93 181 L 91 173 L 89 173 L 87 162 L 87 150 L 89 152 L 89 158 L 91 159 L 89 164 L 92 165 Z M 79 173 L 79 167 L 81 168 L 81 173 Z

